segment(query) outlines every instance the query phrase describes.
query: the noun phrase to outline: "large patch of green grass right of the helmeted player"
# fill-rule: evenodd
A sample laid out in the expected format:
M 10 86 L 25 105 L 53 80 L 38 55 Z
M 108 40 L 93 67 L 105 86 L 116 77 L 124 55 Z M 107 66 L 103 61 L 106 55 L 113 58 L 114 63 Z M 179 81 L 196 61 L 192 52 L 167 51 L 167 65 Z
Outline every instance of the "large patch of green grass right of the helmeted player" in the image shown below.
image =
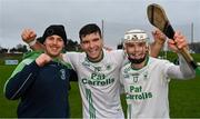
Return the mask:
M 200 117 L 200 77 L 192 80 L 171 80 L 169 89 L 170 117 Z

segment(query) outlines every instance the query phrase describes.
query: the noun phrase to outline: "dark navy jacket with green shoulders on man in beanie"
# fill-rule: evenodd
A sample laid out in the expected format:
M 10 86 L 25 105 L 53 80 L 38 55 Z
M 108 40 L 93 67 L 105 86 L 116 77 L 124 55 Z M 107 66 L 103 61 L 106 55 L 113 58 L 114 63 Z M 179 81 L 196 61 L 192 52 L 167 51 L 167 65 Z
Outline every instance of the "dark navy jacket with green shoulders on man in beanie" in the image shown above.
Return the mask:
M 68 89 L 77 73 L 69 65 L 50 61 L 38 67 L 34 58 L 24 59 L 4 86 L 8 99 L 21 99 L 18 117 L 69 118 Z

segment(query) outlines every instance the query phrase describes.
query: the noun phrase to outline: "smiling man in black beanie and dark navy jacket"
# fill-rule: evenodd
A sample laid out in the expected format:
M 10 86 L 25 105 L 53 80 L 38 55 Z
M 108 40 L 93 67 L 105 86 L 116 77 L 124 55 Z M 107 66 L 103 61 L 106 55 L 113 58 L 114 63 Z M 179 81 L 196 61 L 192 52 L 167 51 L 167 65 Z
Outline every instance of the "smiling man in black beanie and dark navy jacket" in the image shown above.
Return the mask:
M 31 30 L 23 34 L 36 37 Z M 4 95 L 10 100 L 21 99 L 19 118 L 69 118 L 69 81 L 77 75 L 59 58 L 67 43 L 64 27 L 48 27 L 40 40 L 44 52 L 31 52 L 20 62 L 4 85 Z

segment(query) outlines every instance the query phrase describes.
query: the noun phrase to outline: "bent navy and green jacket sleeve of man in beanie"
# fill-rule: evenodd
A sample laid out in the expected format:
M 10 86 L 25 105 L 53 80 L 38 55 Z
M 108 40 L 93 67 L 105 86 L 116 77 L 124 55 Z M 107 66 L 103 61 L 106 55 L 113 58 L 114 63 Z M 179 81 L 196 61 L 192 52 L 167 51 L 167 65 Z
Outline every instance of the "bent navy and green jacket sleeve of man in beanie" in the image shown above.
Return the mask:
M 21 62 L 13 75 L 4 85 L 4 96 L 10 100 L 19 99 L 27 89 L 32 85 L 39 71 L 39 66 L 36 61 L 30 65 Z

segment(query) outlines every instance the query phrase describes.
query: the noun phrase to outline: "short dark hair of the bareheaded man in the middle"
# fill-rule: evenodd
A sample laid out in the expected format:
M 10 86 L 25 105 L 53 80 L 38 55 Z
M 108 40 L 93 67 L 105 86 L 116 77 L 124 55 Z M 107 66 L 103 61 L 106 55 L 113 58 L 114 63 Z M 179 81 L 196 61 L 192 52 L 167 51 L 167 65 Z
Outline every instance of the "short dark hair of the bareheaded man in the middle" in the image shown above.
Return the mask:
M 86 37 L 87 34 L 98 32 L 101 37 L 101 30 L 96 23 L 89 23 L 83 26 L 79 31 L 79 38 L 82 40 L 82 37 Z

